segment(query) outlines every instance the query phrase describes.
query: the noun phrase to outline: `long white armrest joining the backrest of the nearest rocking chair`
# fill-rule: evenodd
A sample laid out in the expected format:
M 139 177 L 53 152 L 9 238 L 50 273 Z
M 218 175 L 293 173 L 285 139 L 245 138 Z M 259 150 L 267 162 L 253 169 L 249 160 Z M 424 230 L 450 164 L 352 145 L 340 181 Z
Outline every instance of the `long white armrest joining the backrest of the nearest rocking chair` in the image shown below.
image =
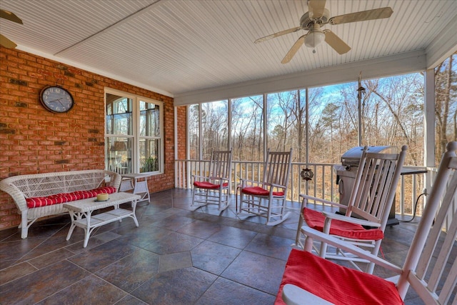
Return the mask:
M 381 259 L 381 257 L 373 255 L 369 251 L 363 250 L 358 246 L 354 246 L 353 244 L 350 244 L 347 241 L 342 241 L 341 239 L 337 239 L 336 237 L 322 233 L 321 231 L 311 229 L 309 226 L 302 226 L 301 231 L 303 231 L 303 234 L 305 234 L 306 236 L 311 237 L 311 239 L 323 241 L 326 244 L 330 244 L 331 246 L 335 246 L 336 248 L 348 251 L 351 254 L 355 254 L 356 256 L 361 257 L 362 259 L 366 259 L 378 266 L 382 266 L 383 268 L 391 270 L 396 274 L 401 274 L 402 272 L 401 267 L 396 266 L 395 264 L 392 264 L 391 262 L 386 261 L 385 259 Z

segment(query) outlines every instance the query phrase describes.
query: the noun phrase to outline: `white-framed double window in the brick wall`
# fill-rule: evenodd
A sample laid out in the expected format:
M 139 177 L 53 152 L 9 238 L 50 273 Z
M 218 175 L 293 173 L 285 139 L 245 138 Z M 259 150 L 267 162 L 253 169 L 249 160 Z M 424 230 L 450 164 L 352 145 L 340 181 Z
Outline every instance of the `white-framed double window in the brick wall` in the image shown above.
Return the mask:
M 105 90 L 105 103 L 105 169 L 163 172 L 163 104 L 114 89 Z

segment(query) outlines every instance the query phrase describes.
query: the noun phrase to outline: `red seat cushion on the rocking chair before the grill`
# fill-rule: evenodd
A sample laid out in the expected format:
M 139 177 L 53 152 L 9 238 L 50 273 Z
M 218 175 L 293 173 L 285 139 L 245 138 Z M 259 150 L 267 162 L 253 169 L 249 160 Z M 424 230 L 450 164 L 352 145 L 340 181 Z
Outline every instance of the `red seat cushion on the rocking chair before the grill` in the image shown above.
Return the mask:
M 304 208 L 303 216 L 308 226 L 318 231 L 323 231 L 323 221 L 326 217 L 320 211 Z M 350 239 L 375 241 L 384 237 L 384 233 L 380 229 L 365 229 L 360 224 L 351 224 L 350 222 L 337 219 L 331 221 L 330 234 Z

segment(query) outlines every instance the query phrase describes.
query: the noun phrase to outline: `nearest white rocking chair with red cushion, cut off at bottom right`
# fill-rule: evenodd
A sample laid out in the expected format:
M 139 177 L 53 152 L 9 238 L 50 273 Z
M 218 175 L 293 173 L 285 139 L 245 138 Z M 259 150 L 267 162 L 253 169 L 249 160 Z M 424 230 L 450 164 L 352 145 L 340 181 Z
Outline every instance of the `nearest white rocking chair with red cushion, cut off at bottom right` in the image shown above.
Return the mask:
M 448 144 L 403 266 L 306 227 L 305 251 L 292 249 L 276 304 L 403 304 L 409 287 L 424 304 L 457 304 L 456 150 L 457 142 Z M 381 279 L 322 259 L 309 252 L 311 239 L 325 241 L 397 275 Z

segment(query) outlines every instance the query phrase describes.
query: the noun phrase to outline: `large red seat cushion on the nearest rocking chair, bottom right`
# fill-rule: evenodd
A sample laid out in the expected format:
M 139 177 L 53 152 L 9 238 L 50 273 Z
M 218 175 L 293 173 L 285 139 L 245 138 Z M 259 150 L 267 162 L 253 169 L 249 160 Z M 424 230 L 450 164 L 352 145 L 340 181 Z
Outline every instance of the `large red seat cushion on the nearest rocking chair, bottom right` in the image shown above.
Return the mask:
M 333 304 L 404 304 L 391 281 L 298 249 L 292 249 L 288 256 L 275 304 L 285 304 L 282 291 L 286 284 L 294 284 Z

